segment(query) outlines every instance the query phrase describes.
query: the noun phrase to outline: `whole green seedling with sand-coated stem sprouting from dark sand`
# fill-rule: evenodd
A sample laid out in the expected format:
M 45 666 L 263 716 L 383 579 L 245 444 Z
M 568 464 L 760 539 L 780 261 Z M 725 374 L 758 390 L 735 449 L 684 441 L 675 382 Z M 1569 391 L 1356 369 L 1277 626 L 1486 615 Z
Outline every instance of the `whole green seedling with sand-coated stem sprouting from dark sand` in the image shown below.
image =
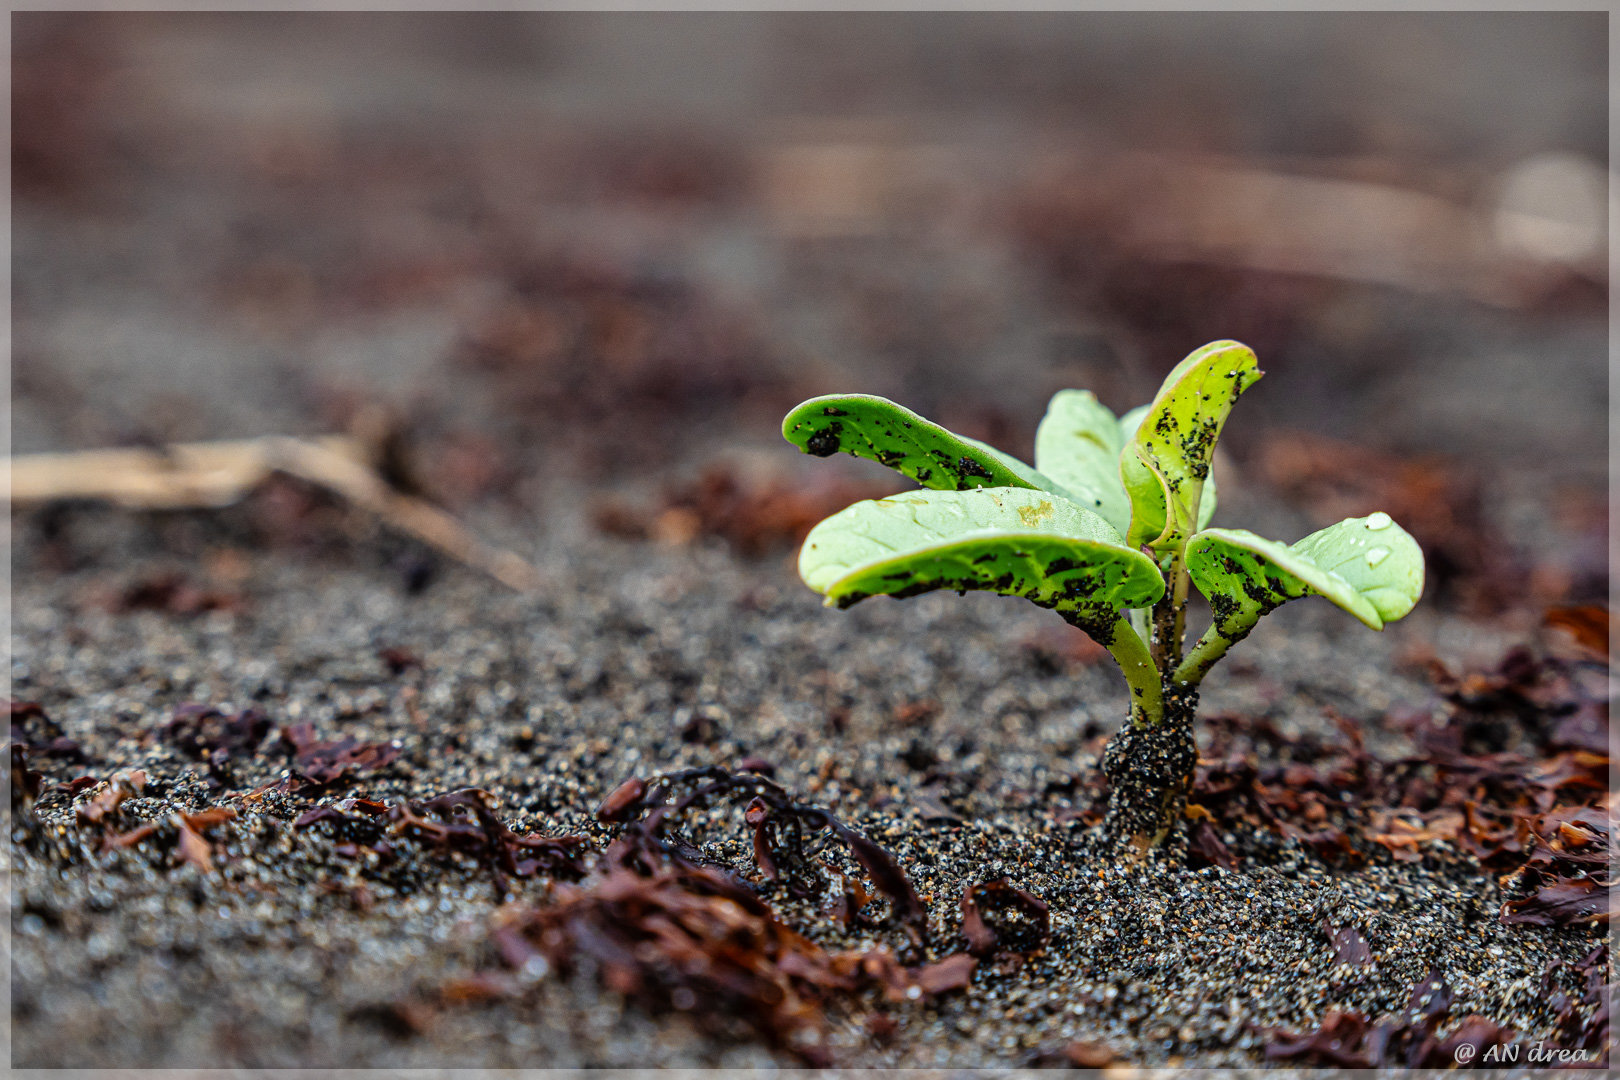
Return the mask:
M 886 398 L 810 398 L 782 421 L 789 442 L 870 458 L 922 489 L 816 525 L 799 573 L 836 607 L 932 589 L 1022 596 L 1097 640 L 1131 687 L 1129 722 L 1103 755 L 1103 832 L 1147 853 L 1186 806 L 1199 683 L 1260 615 L 1314 594 L 1382 630 L 1422 594 L 1422 552 L 1382 512 L 1294 544 L 1209 528 L 1215 440 L 1262 374 L 1247 347 L 1212 342 L 1119 418 L 1087 390 L 1059 390 L 1035 432 L 1035 468 Z M 1213 617 L 1184 649 L 1192 586 Z

